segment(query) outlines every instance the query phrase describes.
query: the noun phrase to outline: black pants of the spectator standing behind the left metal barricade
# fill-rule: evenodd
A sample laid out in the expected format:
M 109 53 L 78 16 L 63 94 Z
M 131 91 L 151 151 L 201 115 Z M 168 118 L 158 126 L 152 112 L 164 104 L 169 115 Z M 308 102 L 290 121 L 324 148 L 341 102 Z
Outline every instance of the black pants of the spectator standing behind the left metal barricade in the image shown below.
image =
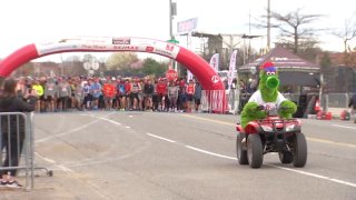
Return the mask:
M 14 130 L 14 129 L 11 129 Z M 10 134 L 8 132 L 1 132 L 1 153 L 6 150 L 6 158 L 2 167 L 18 167 L 24 141 L 24 131 L 20 130 L 19 133 L 14 130 Z M 7 174 L 10 172 L 14 177 L 18 172 L 17 169 L 1 170 L 0 174 Z

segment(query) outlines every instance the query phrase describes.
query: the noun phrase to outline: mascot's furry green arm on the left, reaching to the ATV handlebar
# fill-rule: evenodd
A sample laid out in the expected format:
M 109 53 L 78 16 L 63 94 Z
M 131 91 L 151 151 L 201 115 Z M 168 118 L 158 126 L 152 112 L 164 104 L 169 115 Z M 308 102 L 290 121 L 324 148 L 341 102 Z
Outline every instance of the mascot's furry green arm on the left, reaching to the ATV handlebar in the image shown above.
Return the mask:
M 256 102 L 248 102 L 245 104 L 241 112 L 241 126 L 245 128 L 248 122 L 264 118 L 266 118 L 266 112 L 258 110 L 258 104 Z

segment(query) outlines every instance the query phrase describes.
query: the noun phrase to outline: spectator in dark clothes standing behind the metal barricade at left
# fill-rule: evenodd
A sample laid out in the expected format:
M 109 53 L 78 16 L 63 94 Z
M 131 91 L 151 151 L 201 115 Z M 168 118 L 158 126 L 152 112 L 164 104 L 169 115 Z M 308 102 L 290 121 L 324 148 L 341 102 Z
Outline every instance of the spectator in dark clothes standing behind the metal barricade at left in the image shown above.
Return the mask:
M 0 97 L 0 112 L 31 112 L 34 110 L 34 103 L 30 104 L 18 97 L 16 90 L 17 81 L 7 79 L 3 83 L 3 92 Z M 29 93 L 24 94 L 27 98 Z M 8 121 L 10 120 L 10 121 Z M 10 126 L 10 127 L 8 127 Z M 17 128 L 19 130 L 17 130 Z M 6 149 L 6 158 L 2 167 L 18 167 L 24 141 L 24 120 L 20 117 L 1 118 L 1 151 Z M 0 160 L 1 161 L 1 160 Z M 13 177 L 18 170 L 1 170 L 1 186 L 21 188 Z

